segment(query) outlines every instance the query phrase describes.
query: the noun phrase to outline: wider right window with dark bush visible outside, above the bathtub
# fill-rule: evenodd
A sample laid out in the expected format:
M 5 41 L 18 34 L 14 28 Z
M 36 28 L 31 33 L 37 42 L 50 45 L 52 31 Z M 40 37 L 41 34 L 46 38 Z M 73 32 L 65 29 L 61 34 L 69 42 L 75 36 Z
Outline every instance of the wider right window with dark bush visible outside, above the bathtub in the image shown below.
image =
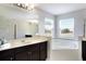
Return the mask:
M 62 38 L 74 37 L 74 18 L 60 20 L 59 37 L 62 37 Z

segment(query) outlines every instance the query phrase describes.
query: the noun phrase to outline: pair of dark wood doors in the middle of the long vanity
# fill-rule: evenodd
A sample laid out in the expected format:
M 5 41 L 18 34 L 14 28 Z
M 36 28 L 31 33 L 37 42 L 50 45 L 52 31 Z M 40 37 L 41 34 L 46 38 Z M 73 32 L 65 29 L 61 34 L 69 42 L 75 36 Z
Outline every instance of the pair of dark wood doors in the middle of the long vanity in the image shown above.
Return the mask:
M 15 61 L 38 61 L 39 43 L 15 49 Z

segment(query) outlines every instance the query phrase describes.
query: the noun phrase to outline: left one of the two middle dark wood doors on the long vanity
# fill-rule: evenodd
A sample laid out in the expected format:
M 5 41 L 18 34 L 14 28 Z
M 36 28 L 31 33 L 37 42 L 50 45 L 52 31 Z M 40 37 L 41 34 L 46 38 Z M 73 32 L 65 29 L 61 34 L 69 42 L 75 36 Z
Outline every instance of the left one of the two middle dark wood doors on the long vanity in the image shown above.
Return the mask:
M 30 61 L 30 46 L 20 47 L 15 49 L 15 61 Z

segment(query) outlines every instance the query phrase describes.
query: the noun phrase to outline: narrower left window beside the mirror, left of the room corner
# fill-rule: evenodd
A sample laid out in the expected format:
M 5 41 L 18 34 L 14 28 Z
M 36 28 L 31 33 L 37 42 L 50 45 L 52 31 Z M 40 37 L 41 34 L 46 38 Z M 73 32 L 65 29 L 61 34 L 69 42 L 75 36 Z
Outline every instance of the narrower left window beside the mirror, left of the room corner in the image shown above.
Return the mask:
M 45 34 L 48 36 L 52 36 L 52 29 L 53 29 L 53 20 L 51 18 L 45 18 Z

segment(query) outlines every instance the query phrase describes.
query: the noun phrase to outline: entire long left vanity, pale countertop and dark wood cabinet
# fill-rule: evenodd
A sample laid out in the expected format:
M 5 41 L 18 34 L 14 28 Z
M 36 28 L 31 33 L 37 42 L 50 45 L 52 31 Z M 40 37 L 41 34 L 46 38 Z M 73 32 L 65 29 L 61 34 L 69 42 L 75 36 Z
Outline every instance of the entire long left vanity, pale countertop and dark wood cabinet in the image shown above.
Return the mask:
M 10 40 L 0 47 L 0 61 L 46 61 L 49 57 L 50 38 L 34 36 Z

